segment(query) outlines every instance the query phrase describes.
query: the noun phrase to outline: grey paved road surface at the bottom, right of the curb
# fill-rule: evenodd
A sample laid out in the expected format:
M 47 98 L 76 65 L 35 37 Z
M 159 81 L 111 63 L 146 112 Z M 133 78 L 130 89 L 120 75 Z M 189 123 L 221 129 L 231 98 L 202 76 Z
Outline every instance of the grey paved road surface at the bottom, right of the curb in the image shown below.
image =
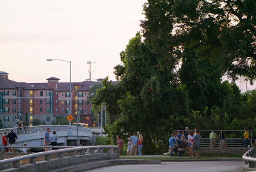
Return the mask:
M 244 160 L 230 160 L 230 161 L 196 161 L 196 162 L 162 162 L 159 165 L 122 165 L 109 166 L 105 168 L 92 169 L 90 171 L 157 171 L 157 172 L 234 172 L 239 166 L 244 164 Z

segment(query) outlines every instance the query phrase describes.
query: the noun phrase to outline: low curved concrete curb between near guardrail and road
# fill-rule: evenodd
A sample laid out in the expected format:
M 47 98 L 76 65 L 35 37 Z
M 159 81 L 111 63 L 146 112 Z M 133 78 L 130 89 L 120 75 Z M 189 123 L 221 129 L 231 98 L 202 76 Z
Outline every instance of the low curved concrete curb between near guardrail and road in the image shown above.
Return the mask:
M 106 166 L 115 166 L 115 165 L 129 165 L 129 164 L 161 164 L 159 160 L 152 159 L 113 159 L 113 160 L 100 160 L 94 162 L 88 162 L 83 164 L 77 164 L 74 166 L 69 166 L 60 169 L 54 169 L 49 172 L 63 172 L 63 171 L 87 171 L 95 168 L 103 168 Z

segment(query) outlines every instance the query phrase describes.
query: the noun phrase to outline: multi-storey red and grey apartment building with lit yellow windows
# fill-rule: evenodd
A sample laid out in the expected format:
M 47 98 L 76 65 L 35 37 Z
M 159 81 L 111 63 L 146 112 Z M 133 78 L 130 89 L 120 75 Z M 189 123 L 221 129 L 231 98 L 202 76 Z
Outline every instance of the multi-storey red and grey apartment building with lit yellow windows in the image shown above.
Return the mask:
M 45 125 L 55 123 L 57 116 L 70 114 L 69 82 L 59 82 L 51 77 L 47 82 L 27 83 L 8 79 L 8 73 L 0 72 L 0 118 L 4 128 L 26 121 L 31 125 L 39 119 Z M 81 122 L 93 125 L 90 118 L 92 105 L 88 103 L 90 86 L 100 82 L 72 82 L 72 116 L 79 113 Z M 88 118 L 89 117 L 89 118 Z

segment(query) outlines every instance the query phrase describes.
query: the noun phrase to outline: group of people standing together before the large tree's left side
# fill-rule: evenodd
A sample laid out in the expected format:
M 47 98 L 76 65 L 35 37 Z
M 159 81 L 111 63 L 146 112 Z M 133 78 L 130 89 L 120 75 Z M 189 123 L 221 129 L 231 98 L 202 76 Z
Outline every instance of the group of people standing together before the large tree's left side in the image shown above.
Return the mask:
M 134 135 L 129 137 L 127 143 L 127 152 L 126 155 L 132 156 L 132 155 L 142 155 L 142 148 L 143 148 L 143 137 L 141 134 L 138 134 L 137 132 L 134 132 Z M 124 148 L 124 141 L 120 138 L 120 136 L 116 136 L 116 144 L 119 148 L 119 155 L 123 155 L 122 151 Z

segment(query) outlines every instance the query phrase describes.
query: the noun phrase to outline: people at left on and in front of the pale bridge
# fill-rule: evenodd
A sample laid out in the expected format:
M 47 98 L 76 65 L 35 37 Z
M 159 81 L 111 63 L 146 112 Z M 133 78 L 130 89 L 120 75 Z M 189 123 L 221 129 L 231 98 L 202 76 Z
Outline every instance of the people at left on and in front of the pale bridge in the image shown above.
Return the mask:
M 19 130 L 18 130 L 19 131 Z M 56 131 L 53 131 L 51 136 L 50 136 L 50 129 L 48 128 L 47 131 L 44 133 L 44 146 L 56 146 L 57 145 L 57 140 L 58 140 L 58 136 L 56 135 Z M 4 132 L 3 137 L 2 137 L 2 143 L 4 146 L 15 146 L 15 142 L 17 141 L 17 134 L 15 134 L 15 132 L 13 132 L 13 129 L 10 130 L 10 132 L 7 134 L 7 132 Z M 27 146 L 26 143 L 24 143 L 22 146 Z M 20 148 L 20 151 L 24 152 L 24 153 L 28 153 L 29 152 L 29 148 Z M 46 151 L 48 150 L 48 148 L 45 149 Z M 14 152 L 14 148 L 5 149 L 5 152 Z

